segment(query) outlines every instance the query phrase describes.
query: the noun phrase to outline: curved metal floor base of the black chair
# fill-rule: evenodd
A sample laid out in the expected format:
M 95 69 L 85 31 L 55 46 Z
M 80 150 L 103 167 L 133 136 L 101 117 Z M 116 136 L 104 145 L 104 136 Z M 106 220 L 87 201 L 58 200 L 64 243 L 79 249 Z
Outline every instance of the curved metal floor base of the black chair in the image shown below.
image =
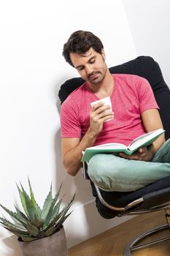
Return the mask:
M 150 236 L 154 233 L 158 233 L 162 230 L 169 230 L 169 225 L 162 225 L 160 227 L 156 227 L 155 229 L 149 230 L 146 233 L 143 233 L 142 235 L 137 236 L 136 238 L 134 238 L 133 240 L 130 241 L 130 243 L 125 247 L 125 251 L 124 251 L 124 256 L 131 256 L 131 252 L 133 252 L 134 250 L 137 249 L 142 249 L 146 246 L 152 245 L 152 244 L 158 244 L 161 243 L 163 241 L 169 240 L 170 236 L 166 236 L 164 238 L 161 239 L 157 239 L 154 241 L 150 241 L 148 243 L 145 244 L 139 244 L 140 241 L 142 241 L 142 239 L 147 238 L 147 236 Z M 139 245 L 137 245 L 139 244 Z

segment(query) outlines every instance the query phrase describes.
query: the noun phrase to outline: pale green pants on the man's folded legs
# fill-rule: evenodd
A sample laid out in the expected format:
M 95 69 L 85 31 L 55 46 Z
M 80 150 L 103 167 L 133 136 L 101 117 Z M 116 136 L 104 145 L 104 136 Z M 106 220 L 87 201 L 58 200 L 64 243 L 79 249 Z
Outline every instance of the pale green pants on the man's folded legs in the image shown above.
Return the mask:
M 88 163 L 88 176 L 101 189 L 119 192 L 134 191 L 170 176 L 170 139 L 150 162 L 96 154 Z

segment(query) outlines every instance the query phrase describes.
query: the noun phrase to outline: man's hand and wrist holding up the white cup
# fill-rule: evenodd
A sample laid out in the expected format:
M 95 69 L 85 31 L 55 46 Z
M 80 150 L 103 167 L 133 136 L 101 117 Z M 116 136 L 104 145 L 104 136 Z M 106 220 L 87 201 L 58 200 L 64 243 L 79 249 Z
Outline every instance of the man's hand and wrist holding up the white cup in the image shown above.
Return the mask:
M 94 132 L 98 135 L 103 129 L 104 121 L 110 118 L 114 118 L 114 113 L 109 105 L 104 105 L 104 102 L 98 102 L 93 105 L 90 111 L 90 132 Z

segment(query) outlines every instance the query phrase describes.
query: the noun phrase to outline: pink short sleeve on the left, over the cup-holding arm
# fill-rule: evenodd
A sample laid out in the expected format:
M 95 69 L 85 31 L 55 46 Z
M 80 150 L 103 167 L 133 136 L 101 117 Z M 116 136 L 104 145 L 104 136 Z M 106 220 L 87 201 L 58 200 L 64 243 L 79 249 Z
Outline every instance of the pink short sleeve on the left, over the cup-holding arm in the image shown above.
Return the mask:
M 77 105 L 71 100 L 61 105 L 61 137 L 81 138 L 81 127 Z

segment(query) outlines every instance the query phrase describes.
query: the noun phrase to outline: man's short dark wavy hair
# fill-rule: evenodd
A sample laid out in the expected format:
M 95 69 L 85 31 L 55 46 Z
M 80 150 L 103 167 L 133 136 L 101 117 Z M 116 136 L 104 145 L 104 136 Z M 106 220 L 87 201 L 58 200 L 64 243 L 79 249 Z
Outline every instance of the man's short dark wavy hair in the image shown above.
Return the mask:
M 101 39 L 96 37 L 90 31 L 75 31 L 63 45 L 63 57 L 72 67 L 74 67 L 70 59 L 70 53 L 82 55 L 90 48 L 93 48 L 93 50 L 101 54 L 101 50 L 104 48 Z

